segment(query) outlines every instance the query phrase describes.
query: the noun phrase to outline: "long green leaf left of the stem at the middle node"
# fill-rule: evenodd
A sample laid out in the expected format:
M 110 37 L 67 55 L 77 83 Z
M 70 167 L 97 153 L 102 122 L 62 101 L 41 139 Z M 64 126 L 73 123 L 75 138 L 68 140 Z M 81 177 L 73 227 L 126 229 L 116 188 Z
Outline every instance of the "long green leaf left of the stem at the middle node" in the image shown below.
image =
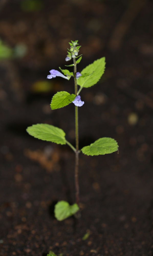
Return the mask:
M 42 141 L 51 141 L 61 145 L 66 144 L 64 131 L 50 124 L 33 124 L 26 131 L 31 136 Z

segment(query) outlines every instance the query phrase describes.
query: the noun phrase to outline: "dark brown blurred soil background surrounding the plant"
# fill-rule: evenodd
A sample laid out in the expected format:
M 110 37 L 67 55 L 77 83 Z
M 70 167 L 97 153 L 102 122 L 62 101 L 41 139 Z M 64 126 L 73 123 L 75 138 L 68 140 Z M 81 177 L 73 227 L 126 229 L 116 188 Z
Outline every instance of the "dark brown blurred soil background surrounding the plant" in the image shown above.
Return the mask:
M 2 256 L 152 255 L 152 17 L 151 0 L 0 1 Z M 101 80 L 81 91 L 80 148 L 104 136 L 119 144 L 119 154 L 80 154 L 76 226 L 53 218 L 58 200 L 74 202 L 73 152 L 26 133 L 48 123 L 75 144 L 74 105 L 50 108 L 57 91 L 74 93 L 73 79 L 46 79 L 68 63 L 71 40 L 82 46 L 79 72 L 106 57 Z

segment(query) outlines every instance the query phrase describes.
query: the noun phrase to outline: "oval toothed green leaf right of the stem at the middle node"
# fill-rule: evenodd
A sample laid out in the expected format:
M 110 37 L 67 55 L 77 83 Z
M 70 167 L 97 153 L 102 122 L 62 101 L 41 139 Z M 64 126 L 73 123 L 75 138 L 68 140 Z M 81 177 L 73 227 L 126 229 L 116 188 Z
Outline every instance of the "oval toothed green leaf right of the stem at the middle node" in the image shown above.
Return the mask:
M 83 147 L 82 153 L 88 156 L 110 154 L 118 150 L 117 142 L 112 138 L 100 138 L 90 146 Z

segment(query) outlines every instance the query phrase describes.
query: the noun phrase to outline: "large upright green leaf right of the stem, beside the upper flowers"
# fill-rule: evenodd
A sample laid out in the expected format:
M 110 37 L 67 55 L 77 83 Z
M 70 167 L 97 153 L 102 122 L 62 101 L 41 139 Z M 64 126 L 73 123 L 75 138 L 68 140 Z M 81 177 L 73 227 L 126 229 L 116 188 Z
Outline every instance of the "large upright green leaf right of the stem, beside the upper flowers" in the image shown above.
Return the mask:
M 81 73 L 92 73 L 90 77 L 80 77 L 78 85 L 81 87 L 91 87 L 96 84 L 105 70 L 105 57 L 95 60 L 92 64 L 84 68 Z

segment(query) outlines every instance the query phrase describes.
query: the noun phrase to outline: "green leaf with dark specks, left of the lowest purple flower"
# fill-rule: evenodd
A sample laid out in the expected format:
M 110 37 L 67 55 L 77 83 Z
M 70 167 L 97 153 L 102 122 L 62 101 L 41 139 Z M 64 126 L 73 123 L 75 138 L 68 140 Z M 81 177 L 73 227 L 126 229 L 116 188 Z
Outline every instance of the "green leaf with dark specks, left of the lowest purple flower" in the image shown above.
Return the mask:
M 51 101 L 51 109 L 60 109 L 63 108 L 64 106 L 69 105 L 74 99 L 76 95 L 75 94 L 70 94 L 68 92 L 57 92 L 54 94 L 52 97 Z

